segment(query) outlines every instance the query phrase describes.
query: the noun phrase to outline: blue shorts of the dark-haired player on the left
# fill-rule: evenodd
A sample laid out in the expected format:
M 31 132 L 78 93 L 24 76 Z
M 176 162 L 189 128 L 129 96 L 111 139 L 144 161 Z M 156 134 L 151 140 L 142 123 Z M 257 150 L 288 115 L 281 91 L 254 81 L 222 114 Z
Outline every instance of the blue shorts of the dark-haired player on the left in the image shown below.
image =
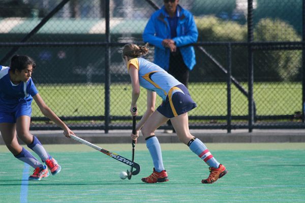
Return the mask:
M 32 115 L 32 107 L 28 105 L 26 101 L 19 103 L 13 111 L 2 111 L 0 110 L 0 123 L 16 123 L 17 118 L 20 116 Z

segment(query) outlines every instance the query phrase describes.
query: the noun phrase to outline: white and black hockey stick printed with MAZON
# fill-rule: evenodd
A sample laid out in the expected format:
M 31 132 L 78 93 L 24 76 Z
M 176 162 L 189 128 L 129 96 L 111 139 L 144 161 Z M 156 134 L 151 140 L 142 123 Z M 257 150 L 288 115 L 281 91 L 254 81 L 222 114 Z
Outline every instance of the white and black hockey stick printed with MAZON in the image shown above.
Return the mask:
M 82 144 L 84 144 L 84 145 L 87 145 L 87 146 L 93 148 L 93 149 L 96 149 L 96 150 L 98 150 L 98 151 L 100 151 L 100 152 L 102 152 L 102 153 L 104 153 L 104 154 L 106 154 L 106 155 L 108 155 L 108 156 L 114 158 L 114 159 L 117 160 L 117 161 L 120 161 L 120 162 L 122 162 L 122 163 L 125 163 L 125 164 L 127 164 L 127 165 L 129 165 L 129 166 L 135 168 L 135 171 L 132 172 L 132 175 L 135 176 L 135 175 L 137 175 L 137 174 L 140 173 L 141 167 L 140 167 L 140 165 L 137 164 L 136 162 L 133 162 L 133 161 L 131 161 L 131 160 L 129 160 L 129 159 L 123 157 L 123 156 L 120 156 L 120 155 L 118 155 L 118 154 L 116 154 L 116 153 L 114 153 L 114 152 L 109 152 L 109 151 L 107 151 L 107 150 L 105 150 L 105 149 L 102 149 L 101 147 L 96 146 L 96 145 L 94 145 L 94 144 L 92 144 L 92 143 L 89 143 L 88 141 L 85 141 L 85 140 L 83 140 L 83 139 L 81 139 L 81 138 L 79 138 L 79 137 L 77 137 L 77 136 L 74 136 L 73 134 L 70 134 L 70 137 L 71 137 L 73 140 L 77 141 L 77 142 L 80 142 L 80 143 L 82 143 Z

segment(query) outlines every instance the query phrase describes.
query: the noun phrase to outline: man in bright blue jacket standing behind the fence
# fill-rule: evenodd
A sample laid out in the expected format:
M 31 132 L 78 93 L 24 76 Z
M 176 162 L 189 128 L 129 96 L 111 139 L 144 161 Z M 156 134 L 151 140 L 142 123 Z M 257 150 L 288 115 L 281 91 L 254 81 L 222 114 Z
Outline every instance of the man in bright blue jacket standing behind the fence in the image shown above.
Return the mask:
M 189 71 L 196 64 L 198 30 L 193 15 L 179 0 L 164 0 L 164 6 L 151 15 L 143 32 L 143 41 L 155 46 L 154 63 L 188 86 Z M 171 126 L 170 121 L 167 122 Z

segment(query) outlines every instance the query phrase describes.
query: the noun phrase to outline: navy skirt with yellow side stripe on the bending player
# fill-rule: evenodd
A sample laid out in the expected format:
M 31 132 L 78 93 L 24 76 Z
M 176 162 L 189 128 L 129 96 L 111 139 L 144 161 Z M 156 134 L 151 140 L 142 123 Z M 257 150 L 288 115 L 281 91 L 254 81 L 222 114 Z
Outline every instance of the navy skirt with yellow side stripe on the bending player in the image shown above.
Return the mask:
M 157 111 L 167 118 L 173 118 L 196 107 L 186 86 L 177 85 L 169 90 L 166 100 L 162 102 Z

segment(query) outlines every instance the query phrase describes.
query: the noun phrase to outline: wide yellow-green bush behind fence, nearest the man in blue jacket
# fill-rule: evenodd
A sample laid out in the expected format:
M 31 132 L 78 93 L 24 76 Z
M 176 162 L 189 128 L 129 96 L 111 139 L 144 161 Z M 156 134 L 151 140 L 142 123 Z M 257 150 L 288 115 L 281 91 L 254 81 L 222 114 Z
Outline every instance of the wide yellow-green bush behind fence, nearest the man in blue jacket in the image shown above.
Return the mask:
M 199 32 L 199 42 L 245 42 L 247 40 L 247 25 L 221 20 L 215 16 L 197 17 L 195 18 L 195 21 Z M 204 49 L 220 62 L 222 66 L 226 67 L 226 47 L 205 46 Z M 199 49 L 195 50 L 197 65 L 195 66 L 194 71 L 190 73 L 190 80 L 194 82 L 225 81 L 226 75 Z M 241 61 L 242 59 L 243 61 Z M 245 73 L 245 71 L 239 71 L 245 69 L 245 65 L 247 65 L 247 63 L 243 63 L 245 60 L 247 60 L 247 48 L 245 46 L 232 47 L 232 73 L 234 77 L 247 78 L 247 73 Z

